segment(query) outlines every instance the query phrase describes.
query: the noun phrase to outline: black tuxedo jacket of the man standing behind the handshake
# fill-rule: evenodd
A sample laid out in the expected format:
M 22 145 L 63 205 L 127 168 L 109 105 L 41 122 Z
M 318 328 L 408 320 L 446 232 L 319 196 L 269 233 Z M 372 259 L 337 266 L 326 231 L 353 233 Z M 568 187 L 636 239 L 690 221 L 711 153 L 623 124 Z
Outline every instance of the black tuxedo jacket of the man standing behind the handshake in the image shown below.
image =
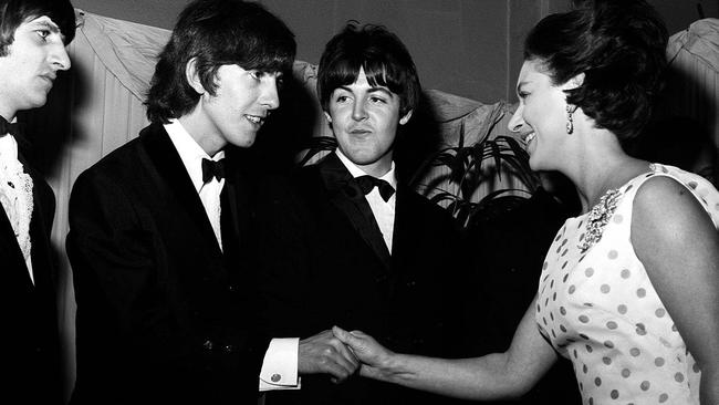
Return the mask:
M 392 350 L 450 356 L 462 282 L 449 215 L 406 187 L 396 195 L 393 252 L 364 195 L 335 154 L 274 186 L 259 215 L 260 287 L 274 336 L 308 338 L 336 324 Z M 434 395 L 352 377 L 302 376 L 300 391 L 270 392 L 267 404 L 439 404 Z

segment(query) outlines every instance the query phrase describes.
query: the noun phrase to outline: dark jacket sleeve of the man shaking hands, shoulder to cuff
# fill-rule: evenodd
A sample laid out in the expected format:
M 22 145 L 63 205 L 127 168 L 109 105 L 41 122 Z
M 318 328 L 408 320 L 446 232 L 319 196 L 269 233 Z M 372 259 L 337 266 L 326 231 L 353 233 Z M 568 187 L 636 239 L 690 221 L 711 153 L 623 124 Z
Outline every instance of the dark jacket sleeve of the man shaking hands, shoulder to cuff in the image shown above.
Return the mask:
M 166 246 L 153 212 L 129 193 L 96 172 L 73 187 L 66 249 L 77 301 L 77 378 L 85 383 L 79 388 L 168 403 L 170 393 L 189 401 L 205 392 L 257 392 L 267 341 L 250 343 L 222 328 L 227 316 L 199 315 L 206 308 L 192 307 L 171 268 L 183 252 Z

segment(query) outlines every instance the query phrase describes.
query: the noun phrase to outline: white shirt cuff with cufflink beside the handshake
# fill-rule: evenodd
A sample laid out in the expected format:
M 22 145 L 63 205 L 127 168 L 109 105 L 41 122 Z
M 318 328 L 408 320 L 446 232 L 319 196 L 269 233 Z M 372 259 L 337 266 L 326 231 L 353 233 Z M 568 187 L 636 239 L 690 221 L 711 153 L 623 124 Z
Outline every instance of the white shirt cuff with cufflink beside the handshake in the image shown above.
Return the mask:
M 298 352 L 300 338 L 277 338 L 264 353 L 260 391 L 300 390 Z

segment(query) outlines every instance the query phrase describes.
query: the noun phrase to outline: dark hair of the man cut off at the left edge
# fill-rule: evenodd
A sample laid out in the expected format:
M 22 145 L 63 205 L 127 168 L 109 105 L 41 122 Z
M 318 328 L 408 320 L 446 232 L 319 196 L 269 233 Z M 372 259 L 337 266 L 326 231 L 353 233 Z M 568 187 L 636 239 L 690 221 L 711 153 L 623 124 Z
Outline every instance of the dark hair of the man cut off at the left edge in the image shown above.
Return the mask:
M 0 56 L 15 40 L 15 30 L 23 22 L 48 15 L 58 24 L 66 44 L 75 38 L 75 10 L 69 0 L 0 0 Z

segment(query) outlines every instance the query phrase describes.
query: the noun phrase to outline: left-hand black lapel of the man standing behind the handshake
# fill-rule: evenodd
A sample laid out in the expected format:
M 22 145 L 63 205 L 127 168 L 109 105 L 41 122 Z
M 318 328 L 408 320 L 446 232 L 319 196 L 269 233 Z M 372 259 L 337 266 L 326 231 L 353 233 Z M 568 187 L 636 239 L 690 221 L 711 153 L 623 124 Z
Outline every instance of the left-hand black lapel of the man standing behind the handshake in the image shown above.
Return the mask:
M 350 220 L 353 228 L 389 271 L 392 257 L 369 202 L 354 183 L 337 155 L 330 154 L 319 164 L 320 175 L 330 194 L 330 201 Z

